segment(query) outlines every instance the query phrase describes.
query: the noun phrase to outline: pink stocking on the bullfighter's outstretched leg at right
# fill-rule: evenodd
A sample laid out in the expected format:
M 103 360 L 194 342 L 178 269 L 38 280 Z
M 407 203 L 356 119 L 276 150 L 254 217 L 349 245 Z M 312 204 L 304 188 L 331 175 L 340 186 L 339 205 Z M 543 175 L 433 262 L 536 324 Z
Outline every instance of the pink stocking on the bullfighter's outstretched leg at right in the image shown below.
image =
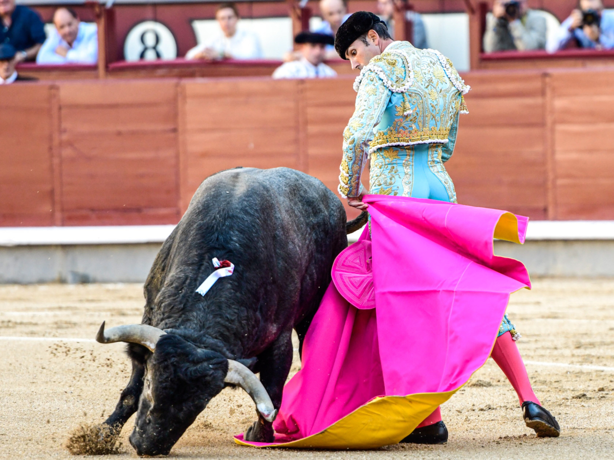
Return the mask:
M 520 351 L 516 347 L 516 342 L 511 338 L 510 332 L 500 335 L 495 340 L 495 346 L 492 348 L 492 359 L 495 360 L 497 366 L 501 368 L 505 377 L 511 383 L 511 386 L 516 390 L 518 399 L 522 405 L 524 401 L 532 401 L 537 404 L 542 404 L 531 388 L 527 369 L 524 367 Z

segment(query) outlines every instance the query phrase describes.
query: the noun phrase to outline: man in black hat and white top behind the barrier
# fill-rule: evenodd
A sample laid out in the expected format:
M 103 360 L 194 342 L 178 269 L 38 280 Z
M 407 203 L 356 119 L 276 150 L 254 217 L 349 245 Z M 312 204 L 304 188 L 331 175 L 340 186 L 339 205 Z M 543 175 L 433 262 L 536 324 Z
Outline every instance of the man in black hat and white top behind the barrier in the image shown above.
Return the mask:
M 335 39 L 327 34 L 301 32 L 294 42 L 300 45 L 301 59 L 282 64 L 273 72 L 274 79 L 324 79 L 336 77 L 337 72 L 324 64 L 326 45 Z

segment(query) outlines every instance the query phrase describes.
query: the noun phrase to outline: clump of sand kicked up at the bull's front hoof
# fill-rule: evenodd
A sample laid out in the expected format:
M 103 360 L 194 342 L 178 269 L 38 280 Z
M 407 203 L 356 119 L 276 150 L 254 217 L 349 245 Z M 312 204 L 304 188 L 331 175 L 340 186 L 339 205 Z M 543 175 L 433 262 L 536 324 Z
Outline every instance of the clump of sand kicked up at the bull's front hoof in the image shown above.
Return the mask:
M 82 424 L 71 432 L 64 446 L 73 455 L 118 454 L 122 447 L 122 442 L 117 442 L 121 431 L 121 427 Z

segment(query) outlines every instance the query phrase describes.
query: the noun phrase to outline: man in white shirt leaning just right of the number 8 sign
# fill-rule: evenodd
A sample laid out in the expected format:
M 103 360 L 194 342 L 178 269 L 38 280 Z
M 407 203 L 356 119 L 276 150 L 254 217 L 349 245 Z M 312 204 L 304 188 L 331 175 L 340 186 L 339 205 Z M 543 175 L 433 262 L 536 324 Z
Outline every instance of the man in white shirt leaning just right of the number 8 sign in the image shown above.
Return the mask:
M 1 1 L 1 0 L 0 0 Z M 249 31 L 237 28 L 239 12 L 234 3 L 222 3 L 216 11 L 220 26 L 218 34 L 196 45 L 185 55 L 185 59 L 260 59 L 260 41 Z

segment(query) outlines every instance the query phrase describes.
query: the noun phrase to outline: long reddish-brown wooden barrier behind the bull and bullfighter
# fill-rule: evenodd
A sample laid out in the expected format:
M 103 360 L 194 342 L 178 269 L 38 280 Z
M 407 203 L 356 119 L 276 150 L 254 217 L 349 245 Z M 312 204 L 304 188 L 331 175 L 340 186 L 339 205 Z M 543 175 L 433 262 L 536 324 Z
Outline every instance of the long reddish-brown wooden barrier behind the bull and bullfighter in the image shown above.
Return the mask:
M 459 202 L 542 219 L 614 219 L 614 69 L 463 75 L 446 164 Z M 352 78 L 0 86 L 0 224 L 175 223 L 200 182 L 287 166 L 336 190 Z

